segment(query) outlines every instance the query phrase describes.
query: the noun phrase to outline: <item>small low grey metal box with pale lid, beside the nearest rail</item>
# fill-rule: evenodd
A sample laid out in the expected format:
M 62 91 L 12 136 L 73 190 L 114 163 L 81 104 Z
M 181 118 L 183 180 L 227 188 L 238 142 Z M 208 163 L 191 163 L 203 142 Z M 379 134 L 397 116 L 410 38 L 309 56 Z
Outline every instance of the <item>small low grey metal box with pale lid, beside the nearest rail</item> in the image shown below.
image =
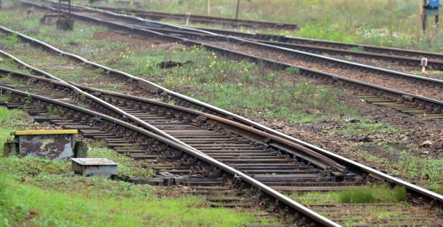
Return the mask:
M 117 175 L 117 164 L 109 159 L 73 158 L 74 172 L 84 176 L 111 177 Z

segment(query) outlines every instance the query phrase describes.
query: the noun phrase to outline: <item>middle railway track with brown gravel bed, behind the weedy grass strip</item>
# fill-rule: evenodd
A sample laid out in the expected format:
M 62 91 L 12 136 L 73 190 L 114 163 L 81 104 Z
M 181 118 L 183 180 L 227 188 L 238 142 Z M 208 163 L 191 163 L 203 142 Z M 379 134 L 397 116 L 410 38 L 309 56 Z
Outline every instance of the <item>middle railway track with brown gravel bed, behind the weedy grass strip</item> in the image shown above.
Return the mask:
M 29 3 L 25 3 L 29 4 Z M 39 4 L 33 4 L 33 6 L 41 6 Z M 41 6 L 44 8 L 48 8 L 47 6 Z M 285 57 L 292 57 L 294 60 L 291 61 L 291 63 L 282 63 L 280 62 L 281 56 L 278 54 L 277 56 L 280 57 L 277 60 L 271 60 L 272 56 L 275 57 L 275 51 L 280 51 L 281 49 L 277 48 L 275 49 L 272 46 L 265 46 L 264 49 L 260 49 L 260 52 L 268 52 L 268 55 L 266 56 L 255 56 L 255 55 L 248 55 L 244 52 L 255 52 L 255 50 L 248 50 L 248 48 L 244 48 L 244 52 L 239 52 L 237 50 L 233 50 L 232 48 L 226 49 L 221 48 L 219 46 L 214 46 L 211 44 L 208 44 L 206 41 L 192 41 L 190 39 L 185 39 L 181 37 L 177 37 L 177 35 L 170 35 L 170 34 L 163 34 L 159 32 L 155 32 L 152 30 L 146 30 L 143 28 L 136 28 L 134 26 L 129 26 L 127 24 L 123 23 L 115 23 L 112 22 L 112 17 L 110 17 L 107 14 L 107 17 L 105 19 L 96 19 L 89 16 L 82 16 L 80 14 L 73 14 L 74 17 L 78 17 L 79 19 L 83 19 L 86 21 L 91 21 L 93 23 L 100 23 L 105 24 L 107 26 L 110 26 L 111 28 L 118 28 L 123 30 L 129 30 L 131 32 L 136 32 L 140 35 L 145 35 L 147 37 L 154 37 L 155 39 L 163 39 L 168 41 L 178 41 L 188 46 L 200 46 L 204 45 L 207 50 L 213 50 L 215 52 L 221 53 L 221 55 L 224 55 L 228 58 L 235 58 L 235 59 L 248 59 L 250 61 L 260 62 L 264 63 L 268 66 L 271 66 L 273 68 L 277 69 L 283 69 L 288 67 L 297 67 L 300 69 L 300 74 L 305 75 L 307 77 L 316 77 L 318 79 L 326 79 L 330 80 L 335 83 L 343 83 L 345 86 L 351 86 L 352 88 L 362 89 L 365 90 L 366 95 L 363 95 L 362 98 L 366 99 L 369 102 L 373 102 L 375 104 L 383 105 L 392 107 L 398 110 L 401 110 L 403 112 L 412 113 L 414 115 L 426 115 L 429 117 L 432 117 L 434 119 L 442 119 L 441 110 L 442 110 L 442 103 L 439 100 L 442 100 L 443 98 L 440 95 L 440 88 L 442 86 L 442 81 L 437 79 L 430 79 L 430 78 L 424 78 L 424 77 L 417 77 L 413 75 L 406 75 L 399 72 L 393 72 L 390 70 L 383 70 L 380 68 L 374 68 L 371 66 L 363 66 L 360 64 L 355 63 L 349 63 L 341 60 L 336 59 L 330 59 L 328 57 L 318 56 L 318 55 L 310 55 L 307 53 L 297 53 L 298 57 L 303 59 L 303 61 L 319 61 L 319 63 L 316 63 L 314 67 L 318 68 L 323 67 L 325 70 L 328 70 L 329 67 L 325 67 L 325 63 L 331 64 L 331 66 L 341 68 L 340 71 L 338 70 L 332 70 L 329 71 L 329 73 L 320 72 L 318 70 L 311 70 L 309 68 L 300 67 L 300 61 L 296 59 L 296 57 L 293 57 L 293 51 L 295 50 L 282 50 L 283 53 L 287 53 L 288 51 L 291 52 L 290 56 Z M 125 17 L 125 19 L 129 20 L 138 20 L 127 16 L 119 16 Z M 114 18 L 115 19 L 115 18 Z M 178 31 L 179 32 L 179 31 Z M 193 32 L 193 34 L 197 34 L 196 32 Z M 206 39 L 208 37 L 208 34 L 197 34 L 200 39 Z M 210 37 L 217 37 L 217 39 L 224 39 L 220 35 L 213 35 L 211 34 Z M 226 38 L 226 37 L 225 37 Z M 235 39 L 237 43 L 240 44 L 246 44 L 246 46 L 257 46 L 259 44 L 251 42 L 251 41 L 242 41 L 242 39 L 237 38 L 230 38 L 229 39 Z M 226 43 L 219 42 L 220 45 L 226 46 Z M 243 48 L 243 47 L 242 47 Z M 269 50 L 268 50 L 269 49 Z M 323 61 L 325 60 L 325 61 Z M 338 63 L 338 66 L 334 65 L 334 63 Z M 326 65 L 329 66 L 329 65 Z M 348 70 L 343 68 L 350 68 Z M 352 78 L 346 78 L 337 76 L 338 74 L 341 74 L 341 72 L 345 72 L 347 75 L 352 75 L 355 71 L 358 70 L 358 74 L 353 76 Z M 367 82 L 361 82 L 356 81 L 358 79 L 364 79 L 364 78 L 374 78 L 372 80 L 368 80 Z M 400 77 L 402 78 L 401 81 L 397 81 L 397 78 L 390 78 L 390 77 Z M 389 81 L 389 83 L 388 83 Z M 378 82 L 379 84 L 369 84 L 369 83 Z M 381 83 L 381 84 L 380 84 Z M 380 86 L 381 85 L 381 86 Z M 401 90 L 405 90 L 404 88 L 410 88 L 406 90 L 406 92 L 397 92 L 393 91 L 392 89 L 383 88 L 382 86 L 393 86 L 393 88 L 399 88 Z M 370 96 L 368 96 L 370 94 Z

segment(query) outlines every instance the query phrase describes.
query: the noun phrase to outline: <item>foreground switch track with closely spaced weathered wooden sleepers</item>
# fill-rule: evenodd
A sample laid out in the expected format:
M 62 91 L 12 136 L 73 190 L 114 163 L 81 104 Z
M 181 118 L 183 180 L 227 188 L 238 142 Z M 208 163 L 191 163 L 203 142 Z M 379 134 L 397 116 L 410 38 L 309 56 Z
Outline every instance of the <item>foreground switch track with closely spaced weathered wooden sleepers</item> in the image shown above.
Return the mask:
M 224 170 L 216 165 L 205 164 L 199 161 L 197 157 L 189 156 L 188 152 L 183 152 L 183 149 L 174 149 L 173 144 L 162 146 L 162 144 L 153 139 L 140 138 L 140 135 L 137 134 L 138 131 L 134 132 L 134 128 L 127 128 L 127 126 L 125 127 L 121 124 L 116 126 L 117 120 L 106 122 L 107 118 L 100 115 L 100 112 L 107 112 L 107 115 L 114 115 L 114 117 L 123 119 L 123 121 L 127 121 L 127 119 L 121 115 L 110 114 L 111 111 L 105 110 L 106 107 L 104 108 L 100 103 L 93 103 L 91 100 L 82 98 L 82 95 L 75 92 L 75 90 L 69 90 L 67 83 L 55 82 L 33 75 L 24 75 L 10 70 L 1 70 L 1 72 L 3 75 L 8 75 L 8 82 L 10 84 L 34 85 L 32 90 L 28 86 L 17 86 L 19 89 L 27 90 L 20 93 L 8 89 L 8 84 L 3 83 L 6 86 L 2 87 L 2 89 L 4 88 L 14 94 L 11 95 L 10 100 L 6 103 L 8 107 L 24 108 L 33 115 L 37 114 L 37 117 L 35 117 L 37 121 L 51 121 L 51 123 L 63 126 L 66 129 L 78 129 L 84 137 L 105 139 L 109 147 L 114 148 L 118 152 L 125 153 L 134 159 L 142 159 L 148 168 L 154 168 L 157 173 L 154 179 L 125 179 L 127 181 L 154 185 L 180 184 L 190 186 L 191 188 L 197 188 L 197 192 L 206 194 L 212 206 L 251 208 L 253 204 L 260 204 L 266 211 L 275 215 L 285 218 L 291 217 L 291 221 L 295 221 L 296 224 L 309 224 L 313 226 L 311 222 L 307 221 L 306 217 L 299 217 L 298 212 L 289 213 L 288 204 L 284 203 L 281 198 L 280 202 L 277 200 L 270 201 L 269 197 L 260 195 L 261 189 L 251 189 L 251 186 L 246 186 L 246 184 L 238 180 L 236 181 L 235 177 L 227 177 L 226 174 L 223 174 Z M 16 77 L 17 81 L 11 83 L 11 79 Z M 51 89 L 48 90 L 47 88 Z M 205 155 L 209 155 L 236 170 L 244 172 L 244 174 L 250 175 L 254 179 L 282 193 L 296 193 L 308 190 L 349 190 L 350 188 L 357 190 L 358 186 L 377 184 L 377 181 L 380 180 L 372 179 L 372 177 L 368 177 L 365 174 L 355 175 L 352 172 L 346 171 L 345 176 L 343 176 L 343 171 L 338 171 L 338 168 L 341 168 L 341 166 L 336 163 L 334 165 L 332 160 L 327 161 L 324 157 L 322 159 L 313 159 L 313 157 L 304 154 L 302 152 L 303 149 L 291 152 L 289 149 L 291 143 L 288 141 L 282 141 L 271 135 L 263 135 L 260 132 L 257 133 L 258 130 L 255 130 L 257 135 L 252 135 L 254 130 L 213 115 L 178 108 L 177 106 L 159 103 L 150 99 L 82 86 L 78 88 L 94 94 L 102 100 L 107 100 L 108 103 L 113 103 L 120 110 L 149 122 L 156 126 L 156 128 L 163 130 L 163 132 L 167 132 L 177 137 L 177 139 L 185 141 L 186 144 L 193 148 L 204 152 Z M 77 106 L 80 100 L 89 109 L 96 110 L 98 113 L 85 116 L 84 112 L 73 108 L 72 105 L 60 105 L 60 103 L 55 101 L 49 102 L 38 96 L 30 95 L 34 93 L 48 95 L 54 99 L 62 100 L 64 103 L 77 103 Z M 29 101 L 29 97 L 31 97 L 32 101 Z M 63 110 L 60 110 L 61 116 L 54 116 L 54 112 L 49 113 L 46 111 L 48 109 L 57 110 L 57 108 L 63 108 Z M 183 112 L 186 112 L 186 115 Z M 186 117 L 183 117 L 183 115 Z M 129 121 L 129 123 L 131 126 L 134 125 L 133 122 Z M 235 126 L 238 128 L 235 129 Z M 205 137 L 205 141 L 201 141 L 201 137 Z M 261 144 L 262 141 L 264 141 L 264 144 Z M 282 142 L 282 144 L 279 142 Z M 137 147 L 137 149 L 134 149 L 134 147 Z M 293 156 L 291 157 L 291 155 Z M 318 158 L 318 155 L 316 158 Z M 240 174 L 237 172 L 237 175 Z M 248 192 L 252 193 L 244 193 L 245 189 L 249 189 Z M 208 191 L 212 190 L 213 193 L 208 195 Z M 226 193 L 219 194 L 222 190 L 227 190 L 230 193 L 228 193 L 228 196 Z M 233 190 L 236 193 L 232 193 Z M 412 198 L 410 199 L 413 202 Z M 321 201 L 320 198 L 317 198 L 317 200 Z M 422 199 L 418 203 L 419 206 L 424 206 L 424 204 L 420 204 L 424 203 Z M 373 215 L 372 210 L 368 210 L 370 208 L 377 208 L 378 210 L 383 210 L 383 213 L 390 214 L 390 217 L 383 219 L 381 222 L 377 220 L 377 224 L 433 226 L 437 223 L 435 222 L 437 221 L 436 219 L 433 217 L 428 218 L 426 215 L 402 217 L 402 215 L 417 210 L 413 206 L 406 208 L 404 204 L 356 205 L 320 202 L 306 205 L 313 208 L 313 210 L 325 213 L 327 217 L 334 217 L 334 220 L 341 224 L 345 224 L 345 221 L 365 220 L 370 215 Z M 341 214 L 339 210 L 328 208 L 327 212 L 325 212 L 325 208 L 329 206 L 337 207 L 340 210 L 352 211 Z M 433 209 L 431 206 L 435 206 L 435 204 L 427 205 L 429 209 Z M 356 207 L 359 208 L 356 209 Z M 356 215 L 361 215 L 361 217 L 356 217 Z

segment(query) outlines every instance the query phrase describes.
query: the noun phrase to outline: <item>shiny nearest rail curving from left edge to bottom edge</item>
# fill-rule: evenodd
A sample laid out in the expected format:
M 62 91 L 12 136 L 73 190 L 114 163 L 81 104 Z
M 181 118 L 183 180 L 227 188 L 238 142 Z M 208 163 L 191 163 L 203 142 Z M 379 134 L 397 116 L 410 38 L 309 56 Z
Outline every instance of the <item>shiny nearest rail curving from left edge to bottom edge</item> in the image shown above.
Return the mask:
M 12 88 L 7 88 L 4 86 L 0 86 L 0 90 L 2 92 L 4 92 L 4 91 L 13 92 L 15 94 L 22 95 L 23 97 L 31 97 L 32 99 L 46 101 L 48 103 L 53 103 L 57 106 L 64 106 L 65 108 L 70 108 L 70 109 L 73 109 L 73 110 L 76 110 L 79 112 L 87 113 L 88 115 L 100 117 L 102 119 L 106 119 L 107 121 L 111 121 L 112 123 L 118 124 L 118 125 L 123 126 L 125 128 L 129 128 L 129 129 L 134 130 L 136 132 L 140 132 L 141 134 L 146 135 L 147 137 L 157 139 L 165 144 L 169 144 L 170 146 L 173 146 L 174 148 L 177 148 L 179 150 L 183 150 L 184 152 L 187 152 L 188 154 L 190 154 L 194 157 L 197 157 L 198 159 L 206 161 L 208 164 L 212 164 L 214 166 L 217 166 L 218 168 L 221 168 L 222 170 L 230 173 L 231 175 L 241 177 L 241 179 L 243 181 L 246 181 L 248 184 L 251 184 L 251 186 L 255 186 L 257 188 L 260 188 L 260 190 L 262 190 L 264 193 L 271 195 L 272 197 L 274 197 L 278 201 L 281 201 L 282 203 L 286 204 L 287 206 L 291 206 L 291 208 L 306 215 L 307 217 L 311 218 L 313 221 L 316 221 L 318 224 L 321 224 L 322 226 L 340 226 L 340 225 L 336 224 L 334 221 L 331 221 L 321 215 L 318 215 L 318 213 L 315 213 L 314 211 L 310 210 L 309 208 L 306 208 L 305 206 L 298 204 L 296 201 L 293 201 L 292 199 L 289 199 L 288 197 L 282 195 L 281 193 L 278 193 L 276 190 L 273 190 L 273 188 L 270 188 L 269 186 L 262 184 L 260 181 L 257 181 L 255 179 L 253 179 L 252 177 L 249 177 L 248 175 L 244 174 L 243 172 L 235 170 L 235 168 L 232 168 L 226 164 L 223 164 L 220 161 L 217 161 L 216 159 L 209 157 L 208 155 L 202 154 L 201 152 L 197 152 L 194 149 L 188 148 L 188 146 L 183 146 L 182 144 L 177 143 L 176 141 L 165 138 L 165 137 L 158 135 L 154 132 L 151 132 L 149 130 L 145 130 L 145 129 L 140 128 L 138 126 L 134 126 L 134 125 L 129 124 L 125 121 L 121 121 L 120 119 L 115 119 L 114 117 L 109 117 L 108 115 L 103 115 L 99 112 L 94 112 L 92 110 L 80 108 L 78 106 L 75 106 L 75 105 L 72 105 L 69 103 L 64 103 L 62 101 L 49 99 L 46 97 L 42 97 L 40 95 L 35 95 L 35 94 L 28 93 L 28 92 L 23 92 L 23 91 L 15 90 Z

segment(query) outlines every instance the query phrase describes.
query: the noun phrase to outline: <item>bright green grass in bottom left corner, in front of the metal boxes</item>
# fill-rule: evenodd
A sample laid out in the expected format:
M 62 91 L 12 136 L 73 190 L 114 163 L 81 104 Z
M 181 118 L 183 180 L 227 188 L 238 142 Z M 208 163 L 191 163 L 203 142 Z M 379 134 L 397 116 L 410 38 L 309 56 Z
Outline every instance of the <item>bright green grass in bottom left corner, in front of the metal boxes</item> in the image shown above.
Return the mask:
M 4 173 L 0 179 L 1 226 L 239 226 L 253 219 L 206 208 L 199 197 L 160 198 L 149 186 L 121 181 L 37 177 L 23 182 Z

